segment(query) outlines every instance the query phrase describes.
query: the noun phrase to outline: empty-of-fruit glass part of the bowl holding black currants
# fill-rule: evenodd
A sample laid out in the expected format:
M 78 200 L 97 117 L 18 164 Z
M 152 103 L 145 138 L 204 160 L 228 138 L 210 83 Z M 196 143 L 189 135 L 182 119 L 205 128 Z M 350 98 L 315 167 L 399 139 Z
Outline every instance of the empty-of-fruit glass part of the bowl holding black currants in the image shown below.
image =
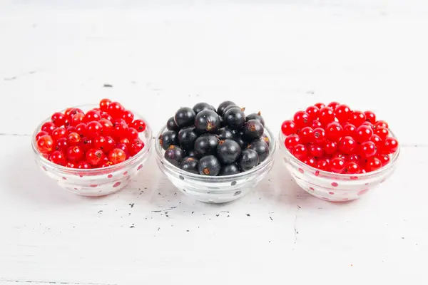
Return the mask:
M 165 132 L 164 127 L 158 137 Z M 257 167 L 246 172 L 229 176 L 197 175 L 172 165 L 163 156 L 165 151 L 156 141 L 156 161 L 161 171 L 185 195 L 189 195 L 200 202 L 225 203 L 246 195 L 263 180 L 273 166 L 273 155 L 276 149 L 275 138 L 269 129 L 265 128 L 265 135 L 270 140 L 270 153 Z

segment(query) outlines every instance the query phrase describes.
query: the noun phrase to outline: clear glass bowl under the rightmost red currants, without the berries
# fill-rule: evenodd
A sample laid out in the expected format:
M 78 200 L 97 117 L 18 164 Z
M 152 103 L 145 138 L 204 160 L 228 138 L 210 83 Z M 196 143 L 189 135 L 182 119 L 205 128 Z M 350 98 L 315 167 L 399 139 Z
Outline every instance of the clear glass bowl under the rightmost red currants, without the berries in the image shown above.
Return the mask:
M 389 130 L 395 138 L 394 133 Z M 303 190 L 317 198 L 332 202 L 358 199 L 381 185 L 395 170 L 399 149 L 391 155 L 387 165 L 364 174 L 347 175 L 318 170 L 297 160 L 285 147 L 285 135 L 280 131 L 280 149 L 285 167 Z

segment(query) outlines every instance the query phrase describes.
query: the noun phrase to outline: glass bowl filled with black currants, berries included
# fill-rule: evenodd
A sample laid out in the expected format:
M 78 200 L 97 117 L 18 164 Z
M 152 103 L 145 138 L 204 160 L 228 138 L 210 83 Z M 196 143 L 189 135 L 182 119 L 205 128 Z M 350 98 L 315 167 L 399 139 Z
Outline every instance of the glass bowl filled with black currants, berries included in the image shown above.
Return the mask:
M 273 166 L 275 138 L 260 113 L 232 101 L 198 103 L 168 119 L 156 144 L 158 166 L 200 202 L 230 202 L 254 189 Z

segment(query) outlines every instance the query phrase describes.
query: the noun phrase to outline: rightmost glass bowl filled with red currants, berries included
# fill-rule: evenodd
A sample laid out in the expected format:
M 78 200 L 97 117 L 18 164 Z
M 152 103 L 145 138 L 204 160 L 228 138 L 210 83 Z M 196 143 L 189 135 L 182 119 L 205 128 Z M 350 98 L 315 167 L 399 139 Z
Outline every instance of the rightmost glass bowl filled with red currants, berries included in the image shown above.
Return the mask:
M 358 199 L 395 170 L 399 143 L 372 111 L 317 103 L 285 120 L 280 148 L 303 190 L 328 201 Z

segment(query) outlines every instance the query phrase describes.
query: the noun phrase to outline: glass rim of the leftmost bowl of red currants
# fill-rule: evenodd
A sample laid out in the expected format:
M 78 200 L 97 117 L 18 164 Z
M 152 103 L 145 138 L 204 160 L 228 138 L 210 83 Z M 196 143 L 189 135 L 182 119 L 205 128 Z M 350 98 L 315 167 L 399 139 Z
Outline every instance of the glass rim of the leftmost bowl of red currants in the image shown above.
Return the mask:
M 69 108 L 80 108 L 80 109 L 85 108 L 86 109 L 86 108 L 97 108 L 97 107 L 98 107 L 97 103 L 92 103 L 92 104 L 90 103 L 90 104 L 84 104 L 84 105 L 76 105 L 76 106 L 69 107 Z M 64 113 L 67 109 L 68 108 L 63 109 L 63 110 L 61 110 L 59 112 Z M 150 153 L 151 142 L 152 142 L 152 130 L 151 130 L 150 125 L 147 123 L 147 120 L 142 115 L 136 113 L 132 109 L 128 109 L 128 110 L 131 110 L 131 112 L 134 114 L 134 116 L 140 118 L 141 120 L 144 121 L 144 123 L 146 123 L 146 130 L 143 130 L 143 132 L 148 131 L 147 144 L 144 145 L 144 147 L 143 147 L 143 149 L 145 147 L 148 147 L 148 151 L 146 151 L 146 152 L 144 152 L 143 150 L 141 150 L 140 152 L 138 152 L 138 154 L 134 155 L 130 159 L 125 160 L 124 162 L 118 163 L 117 165 L 111 165 L 111 166 L 108 166 L 108 167 L 99 167 L 99 168 L 90 168 L 90 169 L 79 169 L 79 168 L 70 168 L 70 167 L 66 167 L 66 166 L 62 166 L 62 165 L 57 165 L 56 163 L 51 162 L 50 160 L 47 160 L 41 154 L 41 152 L 39 152 L 39 150 L 37 150 L 37 146 L 36 146 L 36 143 L 37 143 L 36 142 L 36 135 L 37 135 L 37 133 L 39 133 L 39 131 L 41 129 L 41 125 L 43 125 L 44 123 L 46 123 L 46 122 L 48 122 L 48 121 L 51 120 L 51 117 L 48 117 L 48 118 L 42 120 L 42 122 L 39 125 L 37 125 L 36 130 L 34 130 L 34 133 L 33 133 L 32 137 L 31 137 L 31 146 L 33 148 L 34 154 L 36 155 L 37 158 L 39 158 L 39 160 L 41 160 L 41 162 L 43 162 L 46 165 L 49 165 L 50 167 L 53 167 L 53 168 L 55 168 L 57 170 L 63 170 L 64 172 L 71 171 L 71 172 L 76 173 L 76 174 L 78 174 L 78 173 L 86 173 L 87 174 L 87 173 L 99 172 L 99 171 L 103 171 L 104 172 L 104 171 L 108 171 L 108 170 L 110 170 L 110 171 L 116 171 L 116 170 L 122 169 L 123 167 L 126 167 L 128 165 L 131 165 L 133 162 L 138 161 L 140 158 L 142 158 L 143 156 L 145 156 L 147 153 Z

